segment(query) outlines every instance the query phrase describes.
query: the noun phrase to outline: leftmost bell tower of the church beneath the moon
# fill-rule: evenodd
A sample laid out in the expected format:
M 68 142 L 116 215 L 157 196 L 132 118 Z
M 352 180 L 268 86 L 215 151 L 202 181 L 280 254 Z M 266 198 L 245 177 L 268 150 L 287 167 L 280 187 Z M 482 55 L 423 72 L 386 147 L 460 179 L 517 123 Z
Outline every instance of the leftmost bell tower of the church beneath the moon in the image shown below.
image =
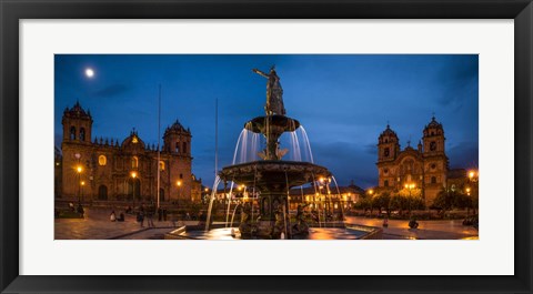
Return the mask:
M 71 109 L 64 109 L 61 123 L 63 124 L 63 142 L 91 143 L 91 112 L 86 112 L 80 102 L 76 102 Z

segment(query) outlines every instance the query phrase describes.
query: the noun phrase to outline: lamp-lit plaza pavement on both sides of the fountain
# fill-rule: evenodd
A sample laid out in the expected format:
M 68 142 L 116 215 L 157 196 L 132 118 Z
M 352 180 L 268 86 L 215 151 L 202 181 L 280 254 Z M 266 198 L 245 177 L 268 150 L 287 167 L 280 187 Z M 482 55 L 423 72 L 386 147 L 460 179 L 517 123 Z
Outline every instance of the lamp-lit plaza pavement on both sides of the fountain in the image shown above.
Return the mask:
M 168 232 L 175 230 L 170 221 L 159 222 L 157 215 L 153 220 L 155 227 L 144 227 L 135 221 L 134 215 L 127 214 L 124 222 L 109 221 L 111 211 L 86 209 L 84 219 L 57 219 L 54 227 L 56 240 L 151 240 L 162 239 Z M 348 216 L 346 222 L 368 226 L 382 227 L 382 219 L 368 219 L 364 216 Z M 178 222 L 177 225 L 198 224 L 195 221 Z M 462 225 L 462 220 L 452 221 L 419 221 L 419 229 L 410 229 L 408 221 L 390 220 L 389 227 L 383 227 L 385 240 L 464 240 L 477 239 L 477 230 Z

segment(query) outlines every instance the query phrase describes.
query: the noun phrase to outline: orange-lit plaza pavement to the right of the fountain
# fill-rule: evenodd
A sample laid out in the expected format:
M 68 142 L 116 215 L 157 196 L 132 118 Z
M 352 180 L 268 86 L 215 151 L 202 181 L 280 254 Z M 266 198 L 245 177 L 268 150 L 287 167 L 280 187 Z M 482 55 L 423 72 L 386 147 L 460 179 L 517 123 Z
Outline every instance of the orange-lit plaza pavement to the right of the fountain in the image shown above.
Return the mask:
M 383 227 L 383 219 L 346 216 L 348 223 Z M 406 220 L 389 220 L 389 227 L 383 227 L 383 239 L 428 239 L 428 240 L 475 240 L 479 232 L 472 226 L 464 226 L 463 220 L 418 221 L 419 229 L 410 229 Z

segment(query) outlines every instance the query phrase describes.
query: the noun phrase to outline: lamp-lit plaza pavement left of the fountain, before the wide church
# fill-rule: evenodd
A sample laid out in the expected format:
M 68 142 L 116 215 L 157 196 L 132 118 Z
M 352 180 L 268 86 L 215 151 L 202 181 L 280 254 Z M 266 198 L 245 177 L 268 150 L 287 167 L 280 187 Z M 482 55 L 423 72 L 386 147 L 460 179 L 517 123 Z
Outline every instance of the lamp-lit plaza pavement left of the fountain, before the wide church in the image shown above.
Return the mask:
M 57 219 L 54 221 L 54 240 L 115 239 L 135 232 L 143 232 L 148 227 L 147 219 L 144 219 L 144 227 L 141 227 L 134 215 L 127 214 L 124 222 L 111 222 L 109 220 L 110 213 L 111 210 L 86 207 L 84 219 Z M 154 217 L 153 224 L 155 227 L 172 226 L 171 222 L 158 222 L 157 217 Z M 171 231 L 171 229 L 167 229 L 167 231 Z M 149 235 L 149 233 L 145 235 Z

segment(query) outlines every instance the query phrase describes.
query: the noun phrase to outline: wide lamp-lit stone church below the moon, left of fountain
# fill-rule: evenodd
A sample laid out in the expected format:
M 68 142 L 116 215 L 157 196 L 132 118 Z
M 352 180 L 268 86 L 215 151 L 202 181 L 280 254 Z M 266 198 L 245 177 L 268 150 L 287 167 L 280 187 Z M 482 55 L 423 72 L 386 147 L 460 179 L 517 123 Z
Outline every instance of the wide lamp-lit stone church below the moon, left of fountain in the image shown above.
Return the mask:
M 162 203 L 200 199 L 194 195 L 201 191 L 201 181 L 192 174 L 191 131 L 178 120 L 164 131 L 159 163 L 157 146 L 145 144 L 134 129 L 121 143 L 95 136 L 91 141 L 92 122 L 91 113 L 79 102 L 63 112 L 61 150 L 56 154 L 56 196 L 155 202 L 159 166 Z

